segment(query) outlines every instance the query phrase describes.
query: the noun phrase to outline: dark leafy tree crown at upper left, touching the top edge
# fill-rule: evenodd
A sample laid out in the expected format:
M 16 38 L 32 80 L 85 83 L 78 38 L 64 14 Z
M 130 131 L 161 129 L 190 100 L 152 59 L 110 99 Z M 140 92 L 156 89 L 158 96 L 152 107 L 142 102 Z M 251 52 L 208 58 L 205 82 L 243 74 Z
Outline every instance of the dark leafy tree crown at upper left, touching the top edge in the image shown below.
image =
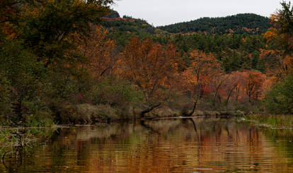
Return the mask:
M 45 66 L 74 60 L 68 52 L 74 49 L 73 34 L 87 35 L 89 23 L 98 23 L 112 1 L 63 0 L 46 1 L 30 6 L 23 13 L 22 38 L 25 47 L 32 49 Z

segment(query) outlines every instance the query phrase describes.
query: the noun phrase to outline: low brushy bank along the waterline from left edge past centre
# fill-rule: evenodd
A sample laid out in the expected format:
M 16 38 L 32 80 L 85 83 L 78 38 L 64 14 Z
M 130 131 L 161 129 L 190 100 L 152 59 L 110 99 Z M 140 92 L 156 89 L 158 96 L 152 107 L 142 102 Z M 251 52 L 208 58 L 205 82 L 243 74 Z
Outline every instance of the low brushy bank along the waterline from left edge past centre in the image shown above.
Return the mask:
M 22 114 L 22 119 L 12 119 L 0 115 L 0 126 L 51 127 L 59 124 L 88 125 L 110 123 L 117 121 L 132 121 L 136 119 L 156 119 L 170 117 L 184 117 L 183 110 L 168 106 L 157 107 L 151 112 L 142 115 L 144 107 L 115 107 L 110 105 L 71 105 L 62 114 L 38 112 L 38 114 Z M 190 117 L 243 117 L 241 111 L 214 111 L 197 109 Z

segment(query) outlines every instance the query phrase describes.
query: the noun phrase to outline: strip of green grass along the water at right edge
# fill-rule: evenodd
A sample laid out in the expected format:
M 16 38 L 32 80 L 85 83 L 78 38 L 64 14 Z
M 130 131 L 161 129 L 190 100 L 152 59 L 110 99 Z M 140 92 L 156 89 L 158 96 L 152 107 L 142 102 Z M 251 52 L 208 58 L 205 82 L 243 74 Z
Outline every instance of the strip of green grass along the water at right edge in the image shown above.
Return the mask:
M 289 114 L 248 114 L 245 119 L 248 121 L 258 121 L 259 124 L 265 124 L 276 128 L 293 127 L 293 115 Z

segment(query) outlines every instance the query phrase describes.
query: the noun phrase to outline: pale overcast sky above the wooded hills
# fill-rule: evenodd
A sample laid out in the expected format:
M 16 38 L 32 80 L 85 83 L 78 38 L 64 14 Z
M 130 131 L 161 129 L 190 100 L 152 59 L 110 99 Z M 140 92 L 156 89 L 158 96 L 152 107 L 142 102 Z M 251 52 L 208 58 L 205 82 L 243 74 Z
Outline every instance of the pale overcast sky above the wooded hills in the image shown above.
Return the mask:
M 282 0 L 115 0 L 120 16 L 142 18 L 154 26 L 202 17 L 222 17 L 237 13 L 270 16 L 281 8 Z

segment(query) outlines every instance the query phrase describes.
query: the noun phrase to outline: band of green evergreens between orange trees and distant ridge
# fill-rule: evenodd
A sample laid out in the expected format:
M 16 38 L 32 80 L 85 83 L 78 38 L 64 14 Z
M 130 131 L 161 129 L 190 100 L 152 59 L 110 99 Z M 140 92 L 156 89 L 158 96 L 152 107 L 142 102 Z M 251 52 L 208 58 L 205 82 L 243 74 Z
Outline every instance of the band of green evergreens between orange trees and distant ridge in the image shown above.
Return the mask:
M 265 61 L 260 59 L 260 52 L 266 46 L 271 47 L 261 35 L 156 35 L 151 38 L 163 45 L 172 42 L 187 65 L 190 59 L 186 55 L 194 49 L 212 53 L 226 73 L 243 70 L 265 72 Z

